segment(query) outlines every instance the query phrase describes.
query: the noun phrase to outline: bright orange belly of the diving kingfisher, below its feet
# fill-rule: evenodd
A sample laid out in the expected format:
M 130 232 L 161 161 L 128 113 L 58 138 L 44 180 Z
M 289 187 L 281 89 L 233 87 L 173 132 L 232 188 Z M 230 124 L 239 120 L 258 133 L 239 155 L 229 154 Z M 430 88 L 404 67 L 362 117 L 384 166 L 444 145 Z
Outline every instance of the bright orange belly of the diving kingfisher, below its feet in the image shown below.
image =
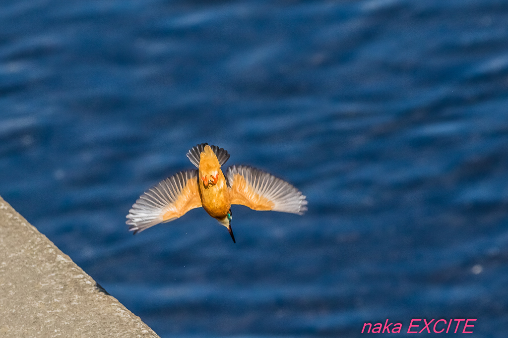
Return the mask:
M 199 182 L 199 194 L 203 209 L 212 217 L 223 219 L 231 208 L 229 190 L 226 185 L 226 178 L 222 172 L 219 173 L 217 183 L 205 187 L 203 181 Z

